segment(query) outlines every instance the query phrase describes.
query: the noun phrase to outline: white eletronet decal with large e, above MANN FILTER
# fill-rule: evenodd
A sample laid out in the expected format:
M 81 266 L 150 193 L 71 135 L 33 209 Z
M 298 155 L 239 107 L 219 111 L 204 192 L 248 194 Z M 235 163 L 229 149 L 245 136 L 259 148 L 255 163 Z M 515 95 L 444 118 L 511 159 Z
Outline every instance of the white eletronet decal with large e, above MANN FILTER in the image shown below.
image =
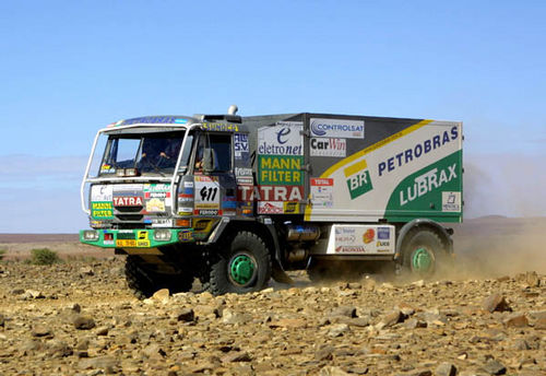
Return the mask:
M 283 122 L 258 129 L 258 154 L 304 155 L 301 122 Z

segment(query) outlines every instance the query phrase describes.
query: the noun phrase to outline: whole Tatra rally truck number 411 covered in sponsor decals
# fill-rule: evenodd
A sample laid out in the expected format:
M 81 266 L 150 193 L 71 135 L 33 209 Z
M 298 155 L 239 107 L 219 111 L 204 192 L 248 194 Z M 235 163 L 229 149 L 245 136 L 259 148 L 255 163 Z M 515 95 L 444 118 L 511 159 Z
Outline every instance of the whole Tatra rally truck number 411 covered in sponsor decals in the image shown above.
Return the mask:
M 138 296 L 263 289 L 285 271 L 438 275 L 462 221 L 462 122 L 335 114 L 145 116 L 95 138 L 81 242 Z

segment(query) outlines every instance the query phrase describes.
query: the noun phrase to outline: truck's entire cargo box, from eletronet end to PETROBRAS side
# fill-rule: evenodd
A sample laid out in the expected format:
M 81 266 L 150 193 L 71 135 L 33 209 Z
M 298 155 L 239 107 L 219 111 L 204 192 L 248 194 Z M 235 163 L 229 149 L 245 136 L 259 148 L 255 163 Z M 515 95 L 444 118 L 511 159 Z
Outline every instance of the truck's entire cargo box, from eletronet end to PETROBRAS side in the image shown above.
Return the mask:
M 317 222 L 462 220 L 461 122 L 296 114 L 242 124 L 256 155 L 259 214 Z

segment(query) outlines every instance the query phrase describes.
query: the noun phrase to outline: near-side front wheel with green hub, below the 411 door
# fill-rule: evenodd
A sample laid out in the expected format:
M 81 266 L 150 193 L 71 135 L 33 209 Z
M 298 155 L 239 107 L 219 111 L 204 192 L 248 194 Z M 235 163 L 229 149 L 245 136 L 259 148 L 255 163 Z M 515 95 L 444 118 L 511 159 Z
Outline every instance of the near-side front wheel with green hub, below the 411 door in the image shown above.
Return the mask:
M 256 234 L 239 232 L 228 251 L 211 266 L 209 289 L 214 295 L 262 290 L 271 277 L 271 256 Z

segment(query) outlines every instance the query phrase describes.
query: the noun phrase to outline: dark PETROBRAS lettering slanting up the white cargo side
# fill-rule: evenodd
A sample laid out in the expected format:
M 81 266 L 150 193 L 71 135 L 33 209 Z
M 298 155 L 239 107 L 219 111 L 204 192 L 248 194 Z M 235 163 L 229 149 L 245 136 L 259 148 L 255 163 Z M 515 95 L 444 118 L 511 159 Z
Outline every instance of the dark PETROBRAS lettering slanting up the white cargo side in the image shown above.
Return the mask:
M 385 173 L 391 173 L 397 167 L 402 167 L 413 161 L 420 158 L 423 155 L 430 153 L 437 149 L 440 149 L 447 143 L 454 141 L 459 138 L 459 129 L 453 126 L 451 130 L 443 131 L 440 134 L 432 137 L 429 140 L 419 142 L 413 148 L 406 149 L 396 155 L 393 155 L 378 164 L 378 174 L 383 176 Z

